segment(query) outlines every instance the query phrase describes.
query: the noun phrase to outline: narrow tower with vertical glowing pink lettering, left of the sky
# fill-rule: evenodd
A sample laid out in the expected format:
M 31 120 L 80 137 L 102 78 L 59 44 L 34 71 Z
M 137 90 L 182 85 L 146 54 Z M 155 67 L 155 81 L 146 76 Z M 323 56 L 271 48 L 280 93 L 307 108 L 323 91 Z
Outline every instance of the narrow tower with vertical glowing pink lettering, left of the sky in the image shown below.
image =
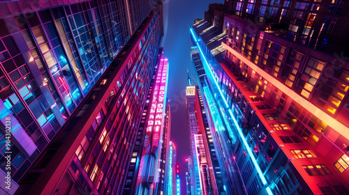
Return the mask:
M 168 59 L 160 53 L 160 61 L 156 65 L 157 72 L 153 76 L 153 85 L 149 88 L 148 100 L 143 112 L 145 130 L 144 143 L 138 173 L 135 172 L 135 189 L 131 194 L 162 194 L 164 191 L 165 170 L 168 165 L 168 141 L 170 141 L 170 105 L 166 100 L 168 84 Z M 143 129 L 143 127 L 141 127 Z M 135 152 L 137 153 L 137 152 Z

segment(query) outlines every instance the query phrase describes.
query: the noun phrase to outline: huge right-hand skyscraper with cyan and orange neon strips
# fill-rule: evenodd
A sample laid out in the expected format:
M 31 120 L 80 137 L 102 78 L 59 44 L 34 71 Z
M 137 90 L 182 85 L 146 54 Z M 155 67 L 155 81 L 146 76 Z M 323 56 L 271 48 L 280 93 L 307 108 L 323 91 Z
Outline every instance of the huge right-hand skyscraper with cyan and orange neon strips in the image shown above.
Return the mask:
M 336 42 L 339 33 L 315 25 L 325 23 L 325 29 L 327 11 L 347 3 L 332 1 L 321 7 L 322 2 L 320 8 L 317 2 L 303 3 L 301 8 L 298 2 L 266 1 L 269 15 L 280 3 L 292 7 L 285 10 L 287 17 L 301 17 L 291 23 L 303 30 L 292 34 L 292 28 L 277 30 L 277 22 L 267 22 L 274 17 L 264 13 L 266 20 L 251 21 L 249 5 L 259 3 L 225 1 L 225 5 L 230 2 L 235 6 L 226 8 L 235 10 L 235 15 L 224 16 L 222 31 L 204 20 L 191 28 L 192 55 L 200 54 L 195 68 L 203 75 L 198 83 L 211 113 L 209 125 L 220 139 L 216 149 L 223 151 L 218 158 L 223 155 L 223 162 L 232 168 L 230 176 L 242 183 L 242 193 L 348 194 L 349 83 L 348 60 L 343 58 L 348 50 L 343 49 L 342 56 L 336 53 L 343 46 Z M 303 23 L 299 9 L 306 10 L 314 26 Z M 332 22 L 338 14 L 331 14 Z M 281 25 L 282 14 L 279 17 Z M 323 36 L 331 40 L 326 47 L 320 47 Z M 221 169 L 223 174 L 229 171 Z M 223 180 L 225 189 L 231 189 L 227 182 Z

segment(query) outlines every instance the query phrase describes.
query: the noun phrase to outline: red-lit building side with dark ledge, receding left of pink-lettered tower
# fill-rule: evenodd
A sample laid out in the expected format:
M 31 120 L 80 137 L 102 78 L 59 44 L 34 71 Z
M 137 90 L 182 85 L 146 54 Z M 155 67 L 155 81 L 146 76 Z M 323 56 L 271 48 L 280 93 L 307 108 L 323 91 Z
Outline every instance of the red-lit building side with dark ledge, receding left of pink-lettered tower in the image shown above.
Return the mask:
M 77 111 L 20 180 L 17 194 L 122 194 L 141 139 L 150 81 L 160 61 L 161 6 L 154 8 Z M 128 173 L 129 175 L 129 173 Z

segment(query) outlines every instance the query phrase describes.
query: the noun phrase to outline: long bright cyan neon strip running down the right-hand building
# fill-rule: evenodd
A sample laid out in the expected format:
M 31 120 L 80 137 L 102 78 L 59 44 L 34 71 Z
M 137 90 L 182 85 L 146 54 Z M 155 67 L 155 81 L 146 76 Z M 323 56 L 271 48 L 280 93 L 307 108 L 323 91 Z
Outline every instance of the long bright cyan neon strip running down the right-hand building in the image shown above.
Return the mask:
M 265 176 L 263 175 L 262 170 L 260 169 L 260 166 L 258 165 L 257 161 L 255 160 L 255 157 L 253 156 L 251 148 L 248 146 L 246 138 L 244 137 L 244 134 L 242 133 L 242 129 L 239 127 L 239 124 L 237 123 L 235 116 L 232 114 L 232 110 L 229 109 L 228 102 L 225 100 L 223 92 L 222 92 L 221 88 L 219 87 L 218 82 L 214 78 L 212 70 L 209 68 L 209 63 L 207 62 L 206 57 L 200 48 L 199 40 L 196 38 L 195 34 L 193 33 L 193 28 L 191 28 L 190 31 L 191 31 L 191 35 L 193 36 L 193 38 L 195 40 L 196 45 L 198 45 L 202 59 L 204 59 L 204 61 L 205 61 L 205 63 L 203 63 L 203 65 L 205 65 L 205 70 L 209 70 L 209 74 L 214 79 L 214 83 L 216 84 L 216 87 L 218 88 L 219 93 L 221 93 L 220 98 L 221 98 L 221 100 L 223 100 L 225 107 L 228 109 L 228 112 L 231 116 L 230 118 L 232 118 L 232 122 L 234 123 L 234 125 L 237 129 L 237 132 L 239 132 L 239 136 L 241 137 L 242 142 L 244 143 L 244 146 L 245 146 L 246 150 L 248 151 L 248 155 L 250 155 L 252 162 L 255 165 L 255 169 L 257 169 L 257 171 L 258 171 L 258 175 L 260 176 L 260 180 L 262 180 L 263 185 L 267 185 L 267 180 L 265 179 Z M 267 189 L 268 194 L 272 194 L 272 190 L 269 188 L 269 186 L 267 186 L 266 189 Z

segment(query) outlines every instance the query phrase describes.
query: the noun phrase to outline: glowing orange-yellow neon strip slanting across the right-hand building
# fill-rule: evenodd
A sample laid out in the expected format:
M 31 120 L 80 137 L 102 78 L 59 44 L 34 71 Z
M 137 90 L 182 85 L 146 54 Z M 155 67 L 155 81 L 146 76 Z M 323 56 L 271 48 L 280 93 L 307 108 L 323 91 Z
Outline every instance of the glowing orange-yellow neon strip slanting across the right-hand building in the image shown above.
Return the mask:
M 311 114 L 315 115 L 316 117 L 320 118 L 323 122 L 325 122 L 330 127 L 334 128 L 336 132 L 339 132 L 339 134 L 343 135 L 343 137 L 346 137 L 346 139 L 349 139 L 349 128 L 346 127 L 346 125 L 343 125 L 338 120 L 332 118 L 332 116 L 329 116 L 325 113 L 325 111 L 322 111 L 318 107 L 316 107 L 314 104 L 303 98 L 301 95 L 296 93 L 295 91 L 292 91 L 292 89 L 285 86 L 285 84 L 281 83 L 279 80 L 275 79 L 271 75 L 269 75 L 267 72 L 259 68 L 257 65 L 246 59 L 242 54 L 239 54 L 239 52 L 236 52 L 234 49 L 226 45 L 224 42 L 222 42 L 223 47 L 225 49 L 228 49 L 230 53 L 237 56 L 238 59 L 246 63 L 248 67 L 255 70 L 255 72 L 258 72 L 260 76 L 262 76 L 264 79 L 272 83 L 276 88 L 279 88 L 283 93 L 286 93 L 288 97 L 292 98 L 292 100 L 295 100 L 297 103 L 299 103 L 302 107 L 306 108 L 306 110 L 310 111 Z

